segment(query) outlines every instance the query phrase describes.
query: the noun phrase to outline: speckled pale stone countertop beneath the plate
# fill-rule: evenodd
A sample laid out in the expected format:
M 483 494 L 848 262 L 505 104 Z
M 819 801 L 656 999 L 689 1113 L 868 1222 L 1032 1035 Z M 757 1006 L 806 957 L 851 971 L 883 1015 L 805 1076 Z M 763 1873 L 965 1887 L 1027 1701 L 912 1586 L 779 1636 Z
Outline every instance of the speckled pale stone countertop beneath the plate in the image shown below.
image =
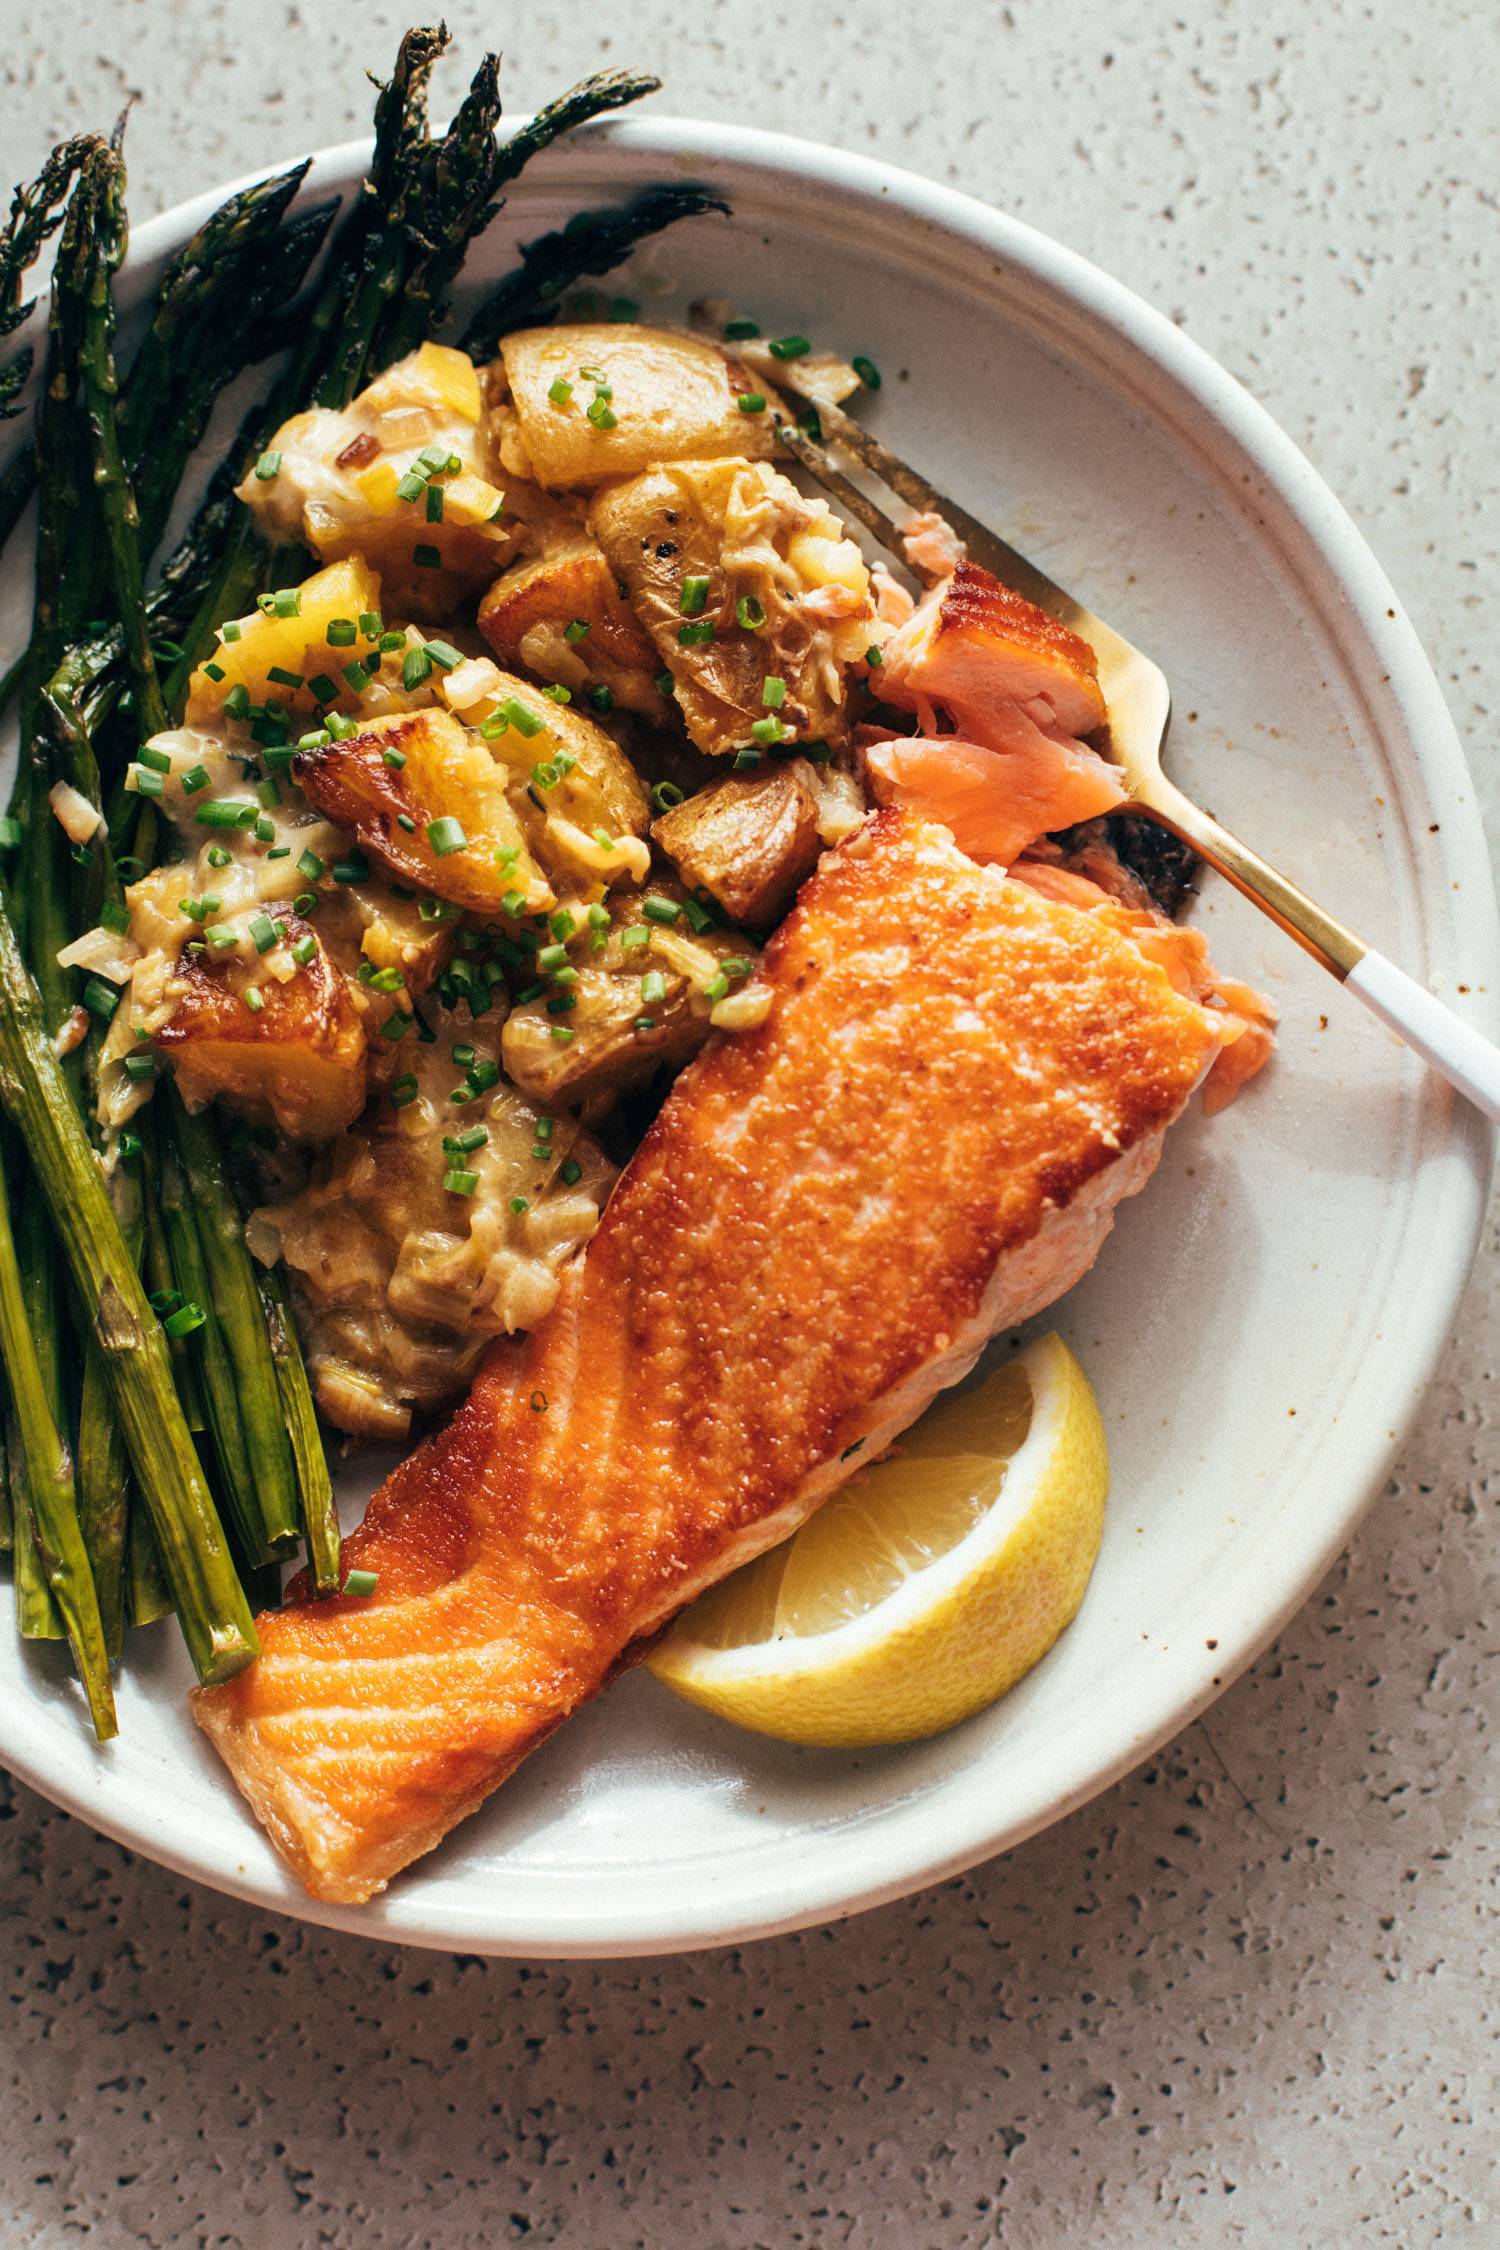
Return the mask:
M 0 14 L 7 178 L 137 88 L 137 214 L 362 130 L 405 20 Z M 648 63 L 672 110 L 951 180 L 1172 313 L 1363 524 L 1500 824 L 1491 7 L 448 18 L 504 38 L 517 108 Z M 1061 1827 L 841 1928 L 641 1966 L 385 1953 L 0 1780 L 0 2246 L 1498 2243 L 1493 1249 L 1491 1217 L 1401 1467 L 1277 1647 Z

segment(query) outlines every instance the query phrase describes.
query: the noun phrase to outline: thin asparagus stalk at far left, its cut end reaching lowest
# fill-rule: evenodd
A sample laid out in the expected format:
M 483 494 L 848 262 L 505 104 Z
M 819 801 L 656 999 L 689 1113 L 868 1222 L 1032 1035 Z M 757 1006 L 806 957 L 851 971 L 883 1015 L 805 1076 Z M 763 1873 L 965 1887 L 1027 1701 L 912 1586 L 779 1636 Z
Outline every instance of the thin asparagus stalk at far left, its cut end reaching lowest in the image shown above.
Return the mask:
M 4 1037 L 4 1035 L 0 1035 Z M 110 1654 L 99 1622 L 94 1575 L 79 1530 L 72 1454 L 52 1413 L 47 1382 L 38 1366 L 29 1328 L 27 1298 L 16 1262 L 9 1202 L 4 1195 L 4 1161 L 0 1159 L 0 1341 L 16 1402 L 16 1424 L 25 1458 L 25 1519 L 31 1548 L 40 1559 L 52 1600 L 67 1631 L 74 1665 L 88 1696 L 88 1712 L 99 1742 L 117 1732 L 115 1696 L 110 1692 Z

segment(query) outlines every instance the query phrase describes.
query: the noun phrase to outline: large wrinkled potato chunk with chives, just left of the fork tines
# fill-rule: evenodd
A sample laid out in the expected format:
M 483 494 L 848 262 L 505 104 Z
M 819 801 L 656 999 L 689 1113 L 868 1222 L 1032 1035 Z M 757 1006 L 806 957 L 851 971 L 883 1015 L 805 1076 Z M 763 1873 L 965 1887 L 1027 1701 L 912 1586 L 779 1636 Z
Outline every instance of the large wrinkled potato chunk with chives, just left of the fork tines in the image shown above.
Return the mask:
M 875 616 L 859 549 L 760 461 L 675 461 L 603 490 L 589 529 L 699 749 L 837 745 Z

